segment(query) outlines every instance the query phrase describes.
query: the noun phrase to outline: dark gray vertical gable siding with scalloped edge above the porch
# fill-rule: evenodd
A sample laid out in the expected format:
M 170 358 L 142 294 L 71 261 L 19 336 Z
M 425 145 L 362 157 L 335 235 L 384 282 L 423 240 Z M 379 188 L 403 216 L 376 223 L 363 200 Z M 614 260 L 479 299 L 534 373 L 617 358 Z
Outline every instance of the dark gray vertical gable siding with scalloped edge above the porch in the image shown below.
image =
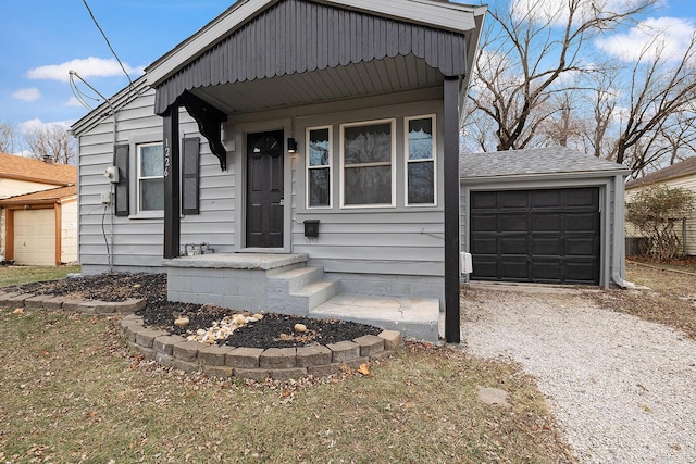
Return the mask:
M 443 75 L 464 75 L 467 38 L 463 33 L 287 0 L 263 11 L 159 84 L 154 111 L 162 114 L 185 90 L 411 53 Z

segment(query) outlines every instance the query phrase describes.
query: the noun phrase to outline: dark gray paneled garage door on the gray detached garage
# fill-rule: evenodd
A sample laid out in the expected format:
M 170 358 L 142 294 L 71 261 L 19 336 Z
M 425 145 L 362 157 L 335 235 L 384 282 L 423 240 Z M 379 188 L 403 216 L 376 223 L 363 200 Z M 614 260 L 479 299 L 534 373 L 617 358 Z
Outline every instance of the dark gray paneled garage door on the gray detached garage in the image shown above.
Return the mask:
M 472 191 L 475 280 L 599 284 L 599 189 Z

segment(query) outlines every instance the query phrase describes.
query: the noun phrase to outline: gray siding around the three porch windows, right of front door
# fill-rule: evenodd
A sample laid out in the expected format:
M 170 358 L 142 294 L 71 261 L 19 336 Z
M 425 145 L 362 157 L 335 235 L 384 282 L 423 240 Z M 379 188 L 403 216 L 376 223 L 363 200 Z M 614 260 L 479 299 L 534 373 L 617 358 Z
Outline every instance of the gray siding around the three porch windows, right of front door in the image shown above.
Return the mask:
M 323 115 L 298 117 L 296 137 L 306 148 L 306 128 L 331 125 L 333 129 L 333 204 L 331 209 L 306 208 L 304 151 L 296 162 L 294 184 L 294 221 L 291 227 L 293 252 L 307 253 L 309 264 L 323 266 L 326 272 L 360 274 L 401 274 L 443 276 L 444 217 L 443 217 L 443 149 L 442 100 L 433 100 L 437 91 L 422 92 L 426 100 L 408 103 L 383 104 L 377 98 L 366 99 L 368 108 L 352 109 Z M 408 101 L 408 100 L 406 100 Z M 333 105 L 333 111 L 339 110 Z M 436 127 L 436 204 L 406 206 L 405 199 L 405 128 L 403 118 L 435 114 Z M 340 208 L 340 124 L 395 118 L 396 160 L 395 208 Z M 303 222 L 320 221 L 320 236 L 304 237 Z

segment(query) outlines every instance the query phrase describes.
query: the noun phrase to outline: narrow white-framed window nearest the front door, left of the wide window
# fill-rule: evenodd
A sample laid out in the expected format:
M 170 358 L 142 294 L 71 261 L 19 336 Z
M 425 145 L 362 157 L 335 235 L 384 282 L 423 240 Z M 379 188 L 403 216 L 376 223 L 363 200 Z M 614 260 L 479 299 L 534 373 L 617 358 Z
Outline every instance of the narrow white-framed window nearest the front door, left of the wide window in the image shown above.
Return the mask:
M 307 208 L 331 208 L 331 126 L 307 129 Z

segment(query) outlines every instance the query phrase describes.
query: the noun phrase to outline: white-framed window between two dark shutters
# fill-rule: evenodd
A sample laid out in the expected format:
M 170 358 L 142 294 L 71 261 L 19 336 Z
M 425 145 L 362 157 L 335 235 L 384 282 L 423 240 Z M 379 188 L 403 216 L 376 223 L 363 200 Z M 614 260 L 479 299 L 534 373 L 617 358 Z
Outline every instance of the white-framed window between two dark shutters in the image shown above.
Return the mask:
M 162 143 L 137 146 L 138 212 L 164 209 L 164 161 Z

